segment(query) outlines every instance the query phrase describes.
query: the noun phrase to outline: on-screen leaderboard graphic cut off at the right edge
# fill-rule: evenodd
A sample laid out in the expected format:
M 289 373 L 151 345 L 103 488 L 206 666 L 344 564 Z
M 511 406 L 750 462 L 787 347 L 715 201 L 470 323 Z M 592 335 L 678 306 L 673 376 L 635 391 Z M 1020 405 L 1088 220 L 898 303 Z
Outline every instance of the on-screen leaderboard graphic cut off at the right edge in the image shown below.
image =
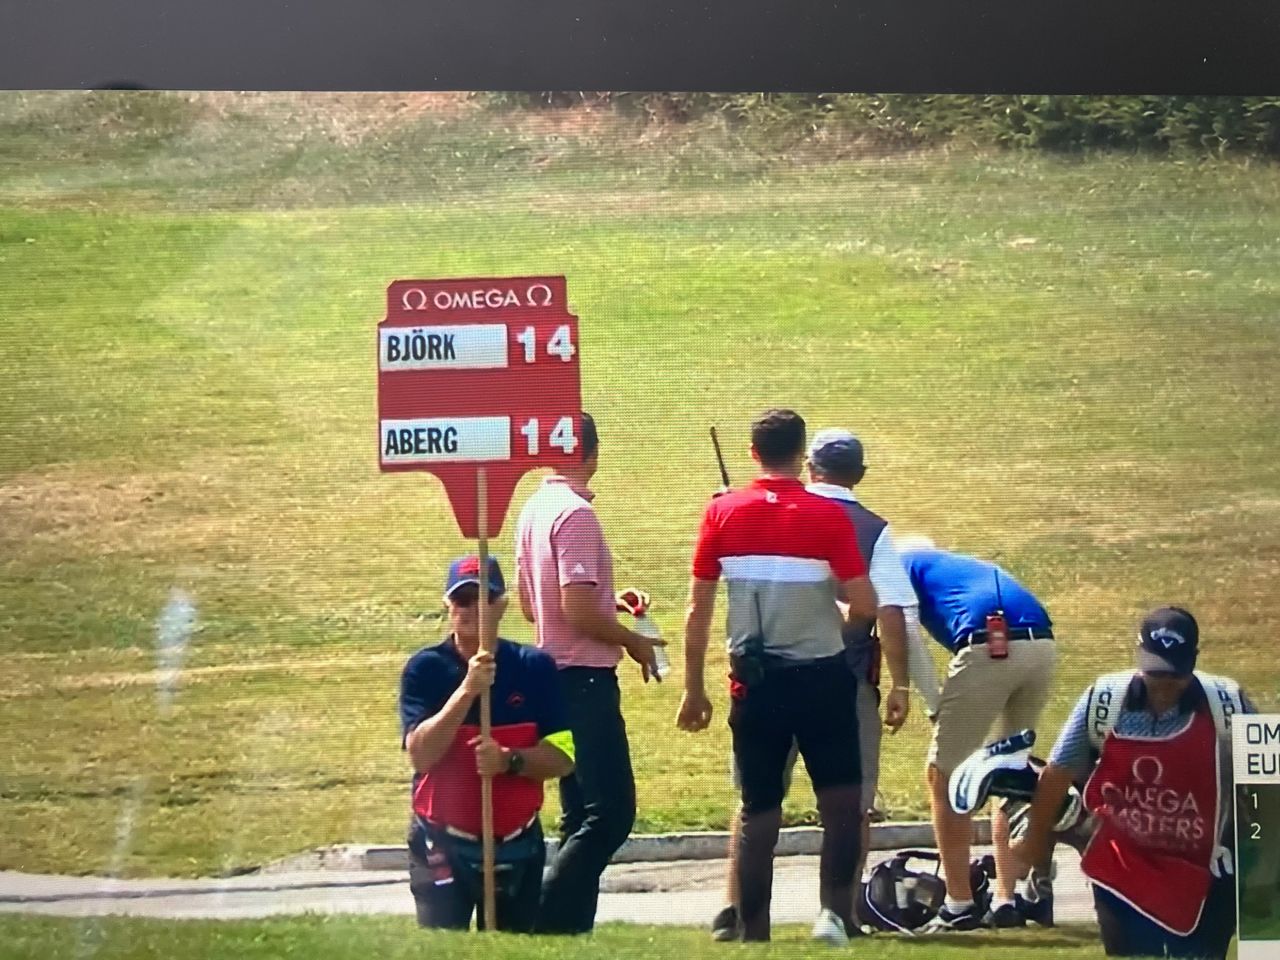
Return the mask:
M 1240 960 L 1280 957 L 1280 714 L 1236 714 L 1235 883 Z

